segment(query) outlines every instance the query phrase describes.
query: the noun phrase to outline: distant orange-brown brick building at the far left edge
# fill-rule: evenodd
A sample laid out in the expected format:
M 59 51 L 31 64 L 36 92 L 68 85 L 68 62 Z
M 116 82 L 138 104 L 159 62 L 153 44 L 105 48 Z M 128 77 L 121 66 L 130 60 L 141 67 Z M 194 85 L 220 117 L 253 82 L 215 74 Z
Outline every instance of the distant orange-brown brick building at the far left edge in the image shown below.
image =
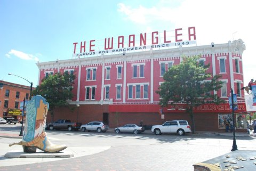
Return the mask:
M 30 87 L 0 80 L 0 117 L 22 119 L 20 102 L 30 96 Z

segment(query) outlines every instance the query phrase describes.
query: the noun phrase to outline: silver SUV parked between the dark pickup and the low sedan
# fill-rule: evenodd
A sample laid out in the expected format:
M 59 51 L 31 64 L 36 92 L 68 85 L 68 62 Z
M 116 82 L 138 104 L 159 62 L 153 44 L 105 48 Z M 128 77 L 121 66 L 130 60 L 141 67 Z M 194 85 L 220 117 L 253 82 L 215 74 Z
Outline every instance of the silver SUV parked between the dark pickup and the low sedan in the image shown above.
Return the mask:
M 109 129 L 109 126 L 103 124 L 101 121 L 91 121 L 88 124 L 82 125 L 80 129 L 82 132 L 97 131 L 98 133 L 100 133 L 100 132 L 106 132 Z

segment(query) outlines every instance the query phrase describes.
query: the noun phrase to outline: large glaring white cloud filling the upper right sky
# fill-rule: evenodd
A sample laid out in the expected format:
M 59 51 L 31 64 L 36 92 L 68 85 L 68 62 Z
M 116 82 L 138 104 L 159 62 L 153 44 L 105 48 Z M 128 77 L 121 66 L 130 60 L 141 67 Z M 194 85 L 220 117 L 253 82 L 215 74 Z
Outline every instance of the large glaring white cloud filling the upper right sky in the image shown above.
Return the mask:
M 255 79 L 254 73 L 254 10 L 256 1 L 245 0 L 185 0 L 157 1 L 154 6 L 139 5 L 132 8 L 118 4 L 118 11 L 134 25 L 145 26 L 146 30 L 161 28 L 174 30 L 196 27 L 197 45 L 228 43 L 241 38 L 246 45 L 243 53 L 244 81 Z M 166 28 L 170 23 L 171 28 Z M 161 31 L 161 30 L 159 30 Z

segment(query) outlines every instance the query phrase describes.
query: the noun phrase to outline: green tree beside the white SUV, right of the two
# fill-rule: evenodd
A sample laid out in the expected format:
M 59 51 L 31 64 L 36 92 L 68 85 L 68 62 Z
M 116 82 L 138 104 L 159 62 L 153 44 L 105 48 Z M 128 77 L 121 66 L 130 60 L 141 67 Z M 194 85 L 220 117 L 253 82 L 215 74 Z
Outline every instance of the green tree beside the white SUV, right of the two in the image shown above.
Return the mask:
M 197 56 L 182 56 L 182 62 L 172 66 L 164 76 L 164 83 L 158 87 L 161 97 L 160 104 L 167 106 L 169 102 L 175 106 L 177 102 L 186 103 L 187 112 L 192 120 L 191 129 L 195 133 L 195 120 L 193 108 L 205 103 L 219 104 L 223 102 L 213 91 L 221 88 L 221 76 L 212 77 L 206 73 L 210 64 L 203 66 L 198 62 Z

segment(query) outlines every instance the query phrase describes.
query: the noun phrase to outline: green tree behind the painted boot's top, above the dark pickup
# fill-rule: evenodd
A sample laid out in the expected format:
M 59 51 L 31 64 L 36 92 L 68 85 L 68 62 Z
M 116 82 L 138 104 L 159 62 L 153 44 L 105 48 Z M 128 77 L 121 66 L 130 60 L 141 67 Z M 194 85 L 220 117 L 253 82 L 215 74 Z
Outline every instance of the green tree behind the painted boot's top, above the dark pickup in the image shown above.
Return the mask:
M 49 103 L 51 111 L 51 120 L 53 121 L 55 107 L 67 105 L 67 100 L 71 100 L 73 80 L 76 78 L 74 74 L 59 73 L 50 75 L 42 79 L 41 85 L 36 86 L 32 95 L 41 95 Z

